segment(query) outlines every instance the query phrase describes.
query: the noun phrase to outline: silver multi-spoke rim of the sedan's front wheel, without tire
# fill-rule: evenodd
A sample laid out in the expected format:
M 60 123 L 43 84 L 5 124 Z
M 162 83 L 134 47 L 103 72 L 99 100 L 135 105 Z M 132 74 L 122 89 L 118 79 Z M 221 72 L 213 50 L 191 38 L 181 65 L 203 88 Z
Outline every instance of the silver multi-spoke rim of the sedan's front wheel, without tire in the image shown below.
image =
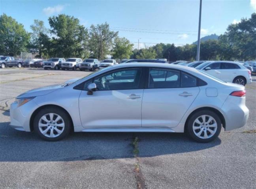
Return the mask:
M 47 113 L 40 118 L 38 127 L 44 136 L 54 138 L 64 131 L 65 123 L 60 115 Z

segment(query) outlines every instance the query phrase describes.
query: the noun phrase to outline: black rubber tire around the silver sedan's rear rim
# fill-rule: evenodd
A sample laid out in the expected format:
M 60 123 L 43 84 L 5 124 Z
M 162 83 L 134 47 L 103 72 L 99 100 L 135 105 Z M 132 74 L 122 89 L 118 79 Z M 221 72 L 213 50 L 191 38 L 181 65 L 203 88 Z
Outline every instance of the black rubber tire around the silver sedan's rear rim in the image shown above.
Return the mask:
M 208 116 L 211 116 L 213 117 L 213 119 L 215 119 L 216 121 L 216 124 L 217 124 L 217 127 L 216 127 L 216 132 L 209 138 L 207 139 L 202 139 L 200 137 L 198 137 L 195 133 L 194 133 L 194 130 L 193 130 L 193 124 L 194 124 L 194 121 L 202 116 L 202 115 L 208 115 Z M 204 125 L 206 127 L 206 124 Z M 209 133 L 209 131 L 207 131 L 207 129 L 203 129 L 201 128 L 203 131 L 201 132 L 201 135 L 204 134 L 204 132 L 207 132 Z M 218 135 L 220 134 L 220 130 L 221 130 L 221 120 L 220 120 L 220 117 L 213 111 L 210 111 L 210 110 L 200 110 L 196 113 L 194 113 L 187 121 L 187 125 L 186 125 L 186 133 L 192 138 L 194 139 L 195 141 L 197 142 L 200 142 L 200 143 L 209 143 L 213 140 L 215 140 Z M 201 136 L 202 137 L 202 136 Z

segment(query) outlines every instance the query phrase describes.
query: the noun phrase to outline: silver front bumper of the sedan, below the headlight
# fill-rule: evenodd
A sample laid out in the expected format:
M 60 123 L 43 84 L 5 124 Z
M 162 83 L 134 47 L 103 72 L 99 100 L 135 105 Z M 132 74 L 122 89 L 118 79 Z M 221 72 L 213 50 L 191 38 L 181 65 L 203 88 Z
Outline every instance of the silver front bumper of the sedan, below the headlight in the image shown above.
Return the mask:
M 17 102 L 13 102 L 10 106 L 10 126 L 19 131 L 30 132 L 30 117 L 37 108 L 34 99 L 20 107 Z

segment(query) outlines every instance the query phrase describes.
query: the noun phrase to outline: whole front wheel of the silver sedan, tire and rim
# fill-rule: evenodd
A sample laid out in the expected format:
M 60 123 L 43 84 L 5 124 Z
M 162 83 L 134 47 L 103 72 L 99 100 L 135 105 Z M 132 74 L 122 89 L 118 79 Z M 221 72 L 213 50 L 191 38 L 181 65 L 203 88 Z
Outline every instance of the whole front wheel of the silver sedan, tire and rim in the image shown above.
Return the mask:
M 68 114 L 58 107 L 41 109 L 34 119 L 34 130 L 46 141 L 58 141 L 71 131 L 72 123 Z

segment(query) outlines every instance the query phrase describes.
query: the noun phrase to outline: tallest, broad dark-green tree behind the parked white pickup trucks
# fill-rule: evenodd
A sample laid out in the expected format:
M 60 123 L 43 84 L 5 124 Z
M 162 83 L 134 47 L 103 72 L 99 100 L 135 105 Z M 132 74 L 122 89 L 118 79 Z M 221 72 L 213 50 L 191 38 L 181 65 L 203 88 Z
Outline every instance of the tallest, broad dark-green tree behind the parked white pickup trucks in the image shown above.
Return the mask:
M 88 57 L 88 30 L 68 15 L 49 17 L 53 54 L 56 57 Z

